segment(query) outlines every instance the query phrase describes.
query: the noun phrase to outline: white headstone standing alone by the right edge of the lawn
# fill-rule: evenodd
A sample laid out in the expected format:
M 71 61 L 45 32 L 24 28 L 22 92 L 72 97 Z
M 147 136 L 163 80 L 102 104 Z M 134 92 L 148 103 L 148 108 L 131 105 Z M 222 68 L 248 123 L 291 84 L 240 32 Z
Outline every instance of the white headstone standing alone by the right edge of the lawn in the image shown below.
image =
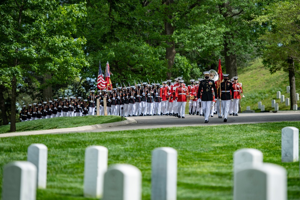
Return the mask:
M 299 160 L 299 129 L 284 127 L 281 130 L 281 161 L 284 163 Z

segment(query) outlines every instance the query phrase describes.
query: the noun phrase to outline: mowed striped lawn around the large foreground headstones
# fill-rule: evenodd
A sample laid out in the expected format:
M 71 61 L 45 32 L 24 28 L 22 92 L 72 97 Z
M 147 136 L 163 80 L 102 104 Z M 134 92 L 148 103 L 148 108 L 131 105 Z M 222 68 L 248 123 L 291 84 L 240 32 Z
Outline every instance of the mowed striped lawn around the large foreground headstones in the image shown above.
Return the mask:
M 90 145 L 109 150 L 109 165 L 128 163 L 143 175 L 143 200 L 151 194 L 151 152 L 157 147 L 178 151 L 178 200 L 232 199 L 233 153 L 241 148 L 262 151 L 264 162 L 285 167 L 288 199 L 300 199 L 299 162 L 281 163 L 281 129 L 299 128 L 300 122 L 219 125 L 128 130 L 102 133 L 72 133 L 20 136 L 0 139 L 0 187 L 3 166 L 26 160 L 27 147 L 48 147 L 47 189 L 37 199 L 86 199 L 83 197 L 84 151 Z

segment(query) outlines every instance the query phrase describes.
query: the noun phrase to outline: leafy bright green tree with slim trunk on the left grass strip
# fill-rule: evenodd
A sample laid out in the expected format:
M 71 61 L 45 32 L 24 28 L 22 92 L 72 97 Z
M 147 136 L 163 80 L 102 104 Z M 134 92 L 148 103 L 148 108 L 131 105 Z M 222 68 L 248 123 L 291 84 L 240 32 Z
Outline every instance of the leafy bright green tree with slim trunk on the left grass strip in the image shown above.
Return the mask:
M 10 131 L 16 131 L 16 87 L 24 77 L 39 86 L 36 77 L 51 74 L 51 82 L 66 82 L 87 66 L 84 38 L 73 38 L 84 18 L 85 4 L 59 1 L 7 0 L 0 3 L 0 84 L 11 94 Z

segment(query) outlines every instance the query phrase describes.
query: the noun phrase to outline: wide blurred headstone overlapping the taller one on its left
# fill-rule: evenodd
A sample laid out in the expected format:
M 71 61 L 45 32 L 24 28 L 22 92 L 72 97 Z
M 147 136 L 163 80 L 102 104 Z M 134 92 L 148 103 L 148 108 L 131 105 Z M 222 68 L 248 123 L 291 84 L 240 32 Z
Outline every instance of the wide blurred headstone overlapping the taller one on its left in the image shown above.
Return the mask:
M 104 175 L 103 200 L 141 200 L 142 173 L 132 165 L 117 164 Z

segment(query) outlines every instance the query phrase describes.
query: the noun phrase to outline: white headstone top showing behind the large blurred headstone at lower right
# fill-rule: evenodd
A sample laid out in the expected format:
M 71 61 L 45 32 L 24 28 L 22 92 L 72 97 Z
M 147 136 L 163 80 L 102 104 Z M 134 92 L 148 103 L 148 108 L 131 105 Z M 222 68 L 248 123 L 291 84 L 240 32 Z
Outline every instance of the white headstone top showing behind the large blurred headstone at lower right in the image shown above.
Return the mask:
M 261 165 L 263 163 L 262 152 L 257 149 L 244 148 L 239 149 L 233 154 L 233 169 L 242 169 Z

